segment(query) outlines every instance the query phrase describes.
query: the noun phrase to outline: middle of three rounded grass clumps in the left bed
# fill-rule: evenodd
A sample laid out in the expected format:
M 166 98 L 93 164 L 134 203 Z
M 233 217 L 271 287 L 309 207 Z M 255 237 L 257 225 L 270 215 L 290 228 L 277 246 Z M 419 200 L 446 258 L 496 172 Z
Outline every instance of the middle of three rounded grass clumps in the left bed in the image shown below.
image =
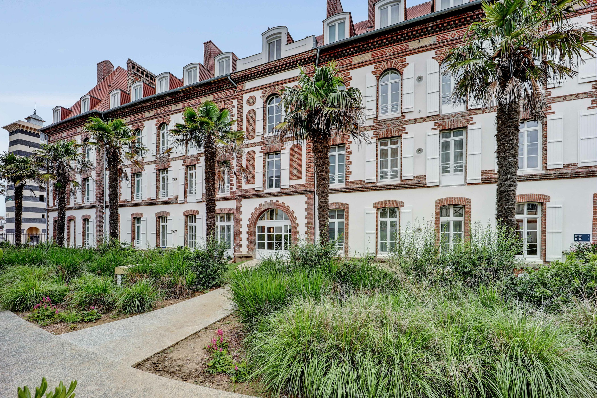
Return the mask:
M 109 277 L 94 274 L 72 279 L 66 302 L 81 311 L 88 310 L 90 307 L 110 310 L 116 302 L 115 283 Z

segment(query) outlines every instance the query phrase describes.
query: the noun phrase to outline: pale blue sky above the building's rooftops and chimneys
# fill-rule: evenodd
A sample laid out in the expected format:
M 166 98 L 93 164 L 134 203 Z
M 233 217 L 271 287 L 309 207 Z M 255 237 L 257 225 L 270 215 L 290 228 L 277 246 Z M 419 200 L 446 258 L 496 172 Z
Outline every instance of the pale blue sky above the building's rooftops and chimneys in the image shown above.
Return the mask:
M 408 6 L 424 0 L 408 0 Z M 343 0 L 353 21 L 367 0 Z M 156 75 L 203 61 L 203 42 L 239 58 L 261 51 L 261 32 L 285 25 L 295 40 L 321 35 L 325 0 L 17 1 L 0 0 L 0 127 L 33 112 L 51 122 L 96 84 L 96 64 L 126 68 L 131 58 Z M 0 152 L 8 132 L 0 129 Z M 4 215 L 4 200 L 0 200 Z

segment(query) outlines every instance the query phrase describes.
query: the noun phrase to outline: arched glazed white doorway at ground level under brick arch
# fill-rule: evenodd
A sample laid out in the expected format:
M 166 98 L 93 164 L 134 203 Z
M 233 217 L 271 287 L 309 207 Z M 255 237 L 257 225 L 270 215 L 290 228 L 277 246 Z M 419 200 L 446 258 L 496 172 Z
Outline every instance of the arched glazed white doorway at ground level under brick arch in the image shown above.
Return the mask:
M 292 224 L 281 209 L 267 209 L 257 220 L 255 240 L 257 258 L 286 255 L 292 244 Z

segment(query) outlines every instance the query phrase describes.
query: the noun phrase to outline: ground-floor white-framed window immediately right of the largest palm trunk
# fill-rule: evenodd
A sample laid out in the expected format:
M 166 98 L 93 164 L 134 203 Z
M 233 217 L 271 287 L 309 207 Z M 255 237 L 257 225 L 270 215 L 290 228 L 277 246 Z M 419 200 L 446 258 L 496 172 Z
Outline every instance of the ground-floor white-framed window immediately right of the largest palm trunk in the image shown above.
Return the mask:
M 525 258 L 539 258 L 541 242 L 541 205 L 527 202 L 516 203 L 516 233 L 518 233 L 518 255 Z

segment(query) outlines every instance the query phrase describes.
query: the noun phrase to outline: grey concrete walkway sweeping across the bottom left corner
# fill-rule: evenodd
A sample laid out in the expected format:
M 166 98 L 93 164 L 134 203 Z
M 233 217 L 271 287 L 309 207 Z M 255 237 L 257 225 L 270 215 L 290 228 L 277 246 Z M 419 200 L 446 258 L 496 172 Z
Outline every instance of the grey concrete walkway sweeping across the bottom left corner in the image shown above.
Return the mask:
M 0 311 L 0 397 L 16 397 L 23 385 L 35 391 L 42 377 L 51 391 L 60 380 L 76 380 L 78 398 L 249 398 L 131 368 Z

